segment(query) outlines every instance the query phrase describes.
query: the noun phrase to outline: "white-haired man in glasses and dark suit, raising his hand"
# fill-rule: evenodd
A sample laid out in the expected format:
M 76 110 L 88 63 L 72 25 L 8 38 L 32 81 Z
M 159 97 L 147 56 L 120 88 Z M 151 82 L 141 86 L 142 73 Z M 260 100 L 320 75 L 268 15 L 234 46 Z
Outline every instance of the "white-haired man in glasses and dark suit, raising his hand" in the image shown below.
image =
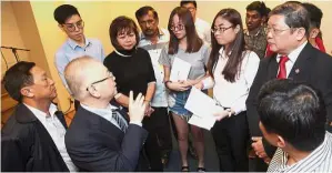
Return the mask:
M 81 171 L 148 171 L 141 150 L 148 136 L 142 128 L 144 96 L 133 101 L 130 93 L 129 119 L 110 104 L 117 93 L 114 77 L 89 57 L 71 61 L 64 78 L 80 106 L 66 134 L 66 146 Z

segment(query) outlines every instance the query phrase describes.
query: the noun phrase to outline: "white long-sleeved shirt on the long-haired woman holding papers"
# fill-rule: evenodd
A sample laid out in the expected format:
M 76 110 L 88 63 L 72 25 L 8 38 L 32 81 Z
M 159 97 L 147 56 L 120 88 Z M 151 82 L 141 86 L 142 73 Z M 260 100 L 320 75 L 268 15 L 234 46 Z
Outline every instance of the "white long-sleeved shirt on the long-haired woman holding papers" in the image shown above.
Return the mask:
M 221 48 L 219 52 L 219 60 L 213 71 L 214 85 L 208 82 L 213 82 L 210 77 L 203 80 L 204 89 L 207 89 L 205 85 L 213 85 L 214 100 L 223 108 L 231 108 L 237 115 L 247 110 L 245 100 L 259 69 L 260 58 L 253 51 L 243 52 L 245 54 L 242 60 L 241 69 L 235 75 L 235 82 L 229 82 L 222 74 L 229 58 L 224 54 L 223 48 Z

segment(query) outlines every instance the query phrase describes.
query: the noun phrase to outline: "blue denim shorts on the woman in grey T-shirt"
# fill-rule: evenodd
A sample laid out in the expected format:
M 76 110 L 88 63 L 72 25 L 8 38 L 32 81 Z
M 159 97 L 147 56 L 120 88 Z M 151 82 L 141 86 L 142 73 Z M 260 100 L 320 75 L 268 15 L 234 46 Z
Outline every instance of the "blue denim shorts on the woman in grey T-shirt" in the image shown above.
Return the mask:
M 168 99 L 169 110 L 172 113 L 181 116 L 182 119 L 185 119 L 187 121 L 192 115 L 192 113 L 184 108 L 189 93 L 190 93 L 190 89 L 182 92 L 170 91 L 169 99 Z

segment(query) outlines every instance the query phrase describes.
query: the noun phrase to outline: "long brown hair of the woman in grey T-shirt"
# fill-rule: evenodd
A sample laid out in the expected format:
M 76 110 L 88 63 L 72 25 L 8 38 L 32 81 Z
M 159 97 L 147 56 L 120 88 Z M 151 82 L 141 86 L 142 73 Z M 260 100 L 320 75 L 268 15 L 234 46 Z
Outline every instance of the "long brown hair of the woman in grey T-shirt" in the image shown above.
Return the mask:
M 175 53 L 178 53 L 178 50 L 179 50 L 179 40 L 175 37 L 175 34 L 173 33 L 173 31 L 171 30 L 171 27 L 173 23 L 173 17 L 175 14 L 178 14 L 180 21 L 183 22 L 183 26 L 185 29 L 185 34 L 187 34 L 185 52 L 188 52 L 188 53 L 198 52 L 201 49 L 203 41 L 198 35 L 191 13 L 185 8 L 177 7 L 171 12 L 171 16 L 169 19 L 169 24 L 168 24 L 168 29 L 170 32 L 170 43 L 169 43 L 169 52 L 168 53 L 175 54 Z

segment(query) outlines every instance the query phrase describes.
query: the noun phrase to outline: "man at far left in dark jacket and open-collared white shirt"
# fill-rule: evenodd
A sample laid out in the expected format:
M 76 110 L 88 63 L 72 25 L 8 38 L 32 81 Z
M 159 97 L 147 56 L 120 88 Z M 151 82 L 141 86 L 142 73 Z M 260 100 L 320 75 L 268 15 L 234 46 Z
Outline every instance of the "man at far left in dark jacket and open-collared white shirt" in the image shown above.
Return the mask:
M 67 124 L 52 100 L 54 82 L 33 62 L 18 62 L 3 77 L 9 95 L 18 101 L 1 131 L 1 171 L 77 171 L 66 146 Z

